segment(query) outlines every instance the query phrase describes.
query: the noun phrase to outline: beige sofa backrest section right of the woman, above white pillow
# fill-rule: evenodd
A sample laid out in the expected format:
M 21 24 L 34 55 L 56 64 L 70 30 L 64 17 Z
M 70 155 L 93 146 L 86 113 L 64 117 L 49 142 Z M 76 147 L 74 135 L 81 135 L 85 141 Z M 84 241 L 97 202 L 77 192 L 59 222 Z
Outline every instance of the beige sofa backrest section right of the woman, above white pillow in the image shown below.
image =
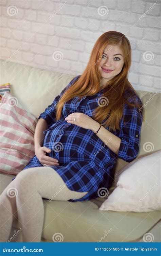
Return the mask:
M 139 144 L 140 156 L 146 156 L 161 150 L 161 93 L 151 93 L 147 91 L 136 90 L 143 103 L 145 117 L 141 127 L 141 136 Z M 127 162 L 122 159 L 115 161 L 115 171 L 120 170 Z

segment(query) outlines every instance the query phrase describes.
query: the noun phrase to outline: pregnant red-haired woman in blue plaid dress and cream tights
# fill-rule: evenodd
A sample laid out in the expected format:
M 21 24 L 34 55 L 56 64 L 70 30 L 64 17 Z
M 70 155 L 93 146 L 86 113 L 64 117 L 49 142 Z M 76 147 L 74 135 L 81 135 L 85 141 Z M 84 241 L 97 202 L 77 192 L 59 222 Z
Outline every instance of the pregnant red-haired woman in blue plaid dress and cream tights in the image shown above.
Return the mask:
M 137 157 L 144 109 L 127 78 L 130 65 L 131 47 L 125 35 L 102 34 L 83 74 L 75 76 L 40 114 L 35 156 L 0 197 L 1 242 L 7 241 L 16 219 L 23 242 L 40 242 L 42 198 L 72 202 L 97 198 L 113 182 L 114 160 L 130 162 Z

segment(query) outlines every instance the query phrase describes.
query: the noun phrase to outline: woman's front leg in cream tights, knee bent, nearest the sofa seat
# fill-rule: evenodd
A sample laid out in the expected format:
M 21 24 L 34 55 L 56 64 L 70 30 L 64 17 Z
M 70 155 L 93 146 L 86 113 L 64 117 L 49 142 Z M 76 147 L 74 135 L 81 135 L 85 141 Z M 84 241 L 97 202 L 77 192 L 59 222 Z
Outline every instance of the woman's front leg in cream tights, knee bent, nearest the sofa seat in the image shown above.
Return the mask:
M 79 199 L 87 192 L 70 190 L 51 167 L 33 167 L 21 171 L 15 179 L 18 219 L 23 242 L 40 242 L 44 220 L 42 198 L 67 201 Z

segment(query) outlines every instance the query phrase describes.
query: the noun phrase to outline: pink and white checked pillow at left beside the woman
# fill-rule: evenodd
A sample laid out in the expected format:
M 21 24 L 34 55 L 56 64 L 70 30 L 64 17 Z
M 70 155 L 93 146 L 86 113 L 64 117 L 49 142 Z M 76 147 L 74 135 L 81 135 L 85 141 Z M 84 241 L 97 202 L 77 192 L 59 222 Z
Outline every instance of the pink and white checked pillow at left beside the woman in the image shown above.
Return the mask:
M 34 132 L 38 119 L 18 99 L 5 92 L 0 102 L 0 171 L 18 174 L 35 155 Z

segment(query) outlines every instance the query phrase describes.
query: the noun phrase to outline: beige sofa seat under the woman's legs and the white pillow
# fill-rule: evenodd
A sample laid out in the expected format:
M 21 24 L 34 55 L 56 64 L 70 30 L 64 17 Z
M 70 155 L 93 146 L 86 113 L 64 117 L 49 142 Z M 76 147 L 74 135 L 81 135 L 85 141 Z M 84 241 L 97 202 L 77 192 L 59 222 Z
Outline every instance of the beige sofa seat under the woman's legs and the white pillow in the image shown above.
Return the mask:
M 13 177 L 12 174 L 0 173 L 0 193 Z M 160 219 L 160 211 L 99 211 L 104 200 L 96 198 L 82 202 L 49 202 L 43 199 L 42 239 L 53 242 L 53 235 L 59 232 L 63 235 L 63 242 L 131 242 L 142 237 Z M 17 221 L 13 227 L 19 229 L 21 226 Z

